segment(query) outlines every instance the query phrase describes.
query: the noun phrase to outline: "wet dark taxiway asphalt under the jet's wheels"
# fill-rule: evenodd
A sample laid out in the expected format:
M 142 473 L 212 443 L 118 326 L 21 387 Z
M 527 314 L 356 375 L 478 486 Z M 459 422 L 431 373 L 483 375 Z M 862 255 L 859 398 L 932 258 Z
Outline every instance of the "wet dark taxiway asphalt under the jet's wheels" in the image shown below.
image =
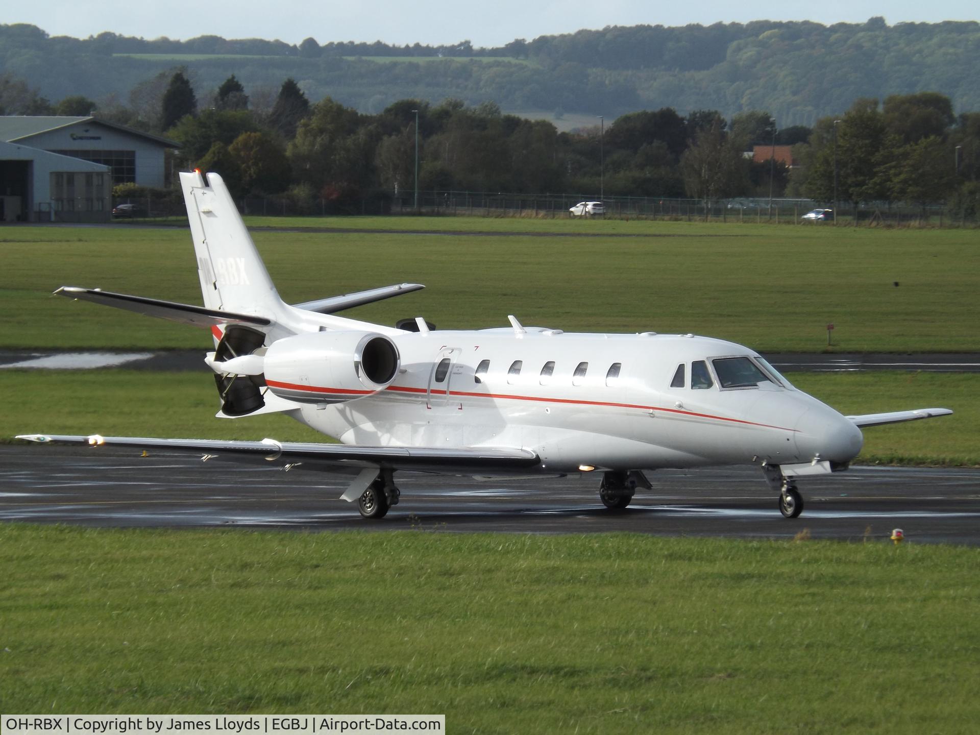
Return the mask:
M 0 520 L 114 527 L 238 527 L 512 533 L 626 531 L 663 536 L 980 545 L 980 469 L 855 467 L 801 482 L 806 508 L 787 520 L 752 467 L 659 470 L 621 513 L 599 477 L 494 478 L 400 472 L 402 502 L 382 520 L 339 500 L 341 474 L 202 463 L 196 457 L 69 446 L 0 447 Z

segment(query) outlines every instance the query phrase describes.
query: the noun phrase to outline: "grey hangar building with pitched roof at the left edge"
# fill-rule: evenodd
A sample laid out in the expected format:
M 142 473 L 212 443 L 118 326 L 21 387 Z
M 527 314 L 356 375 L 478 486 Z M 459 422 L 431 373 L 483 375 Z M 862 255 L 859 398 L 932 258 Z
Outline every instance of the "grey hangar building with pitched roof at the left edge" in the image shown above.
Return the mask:
M 92 117 L 0 117 L 0 221 L 107 221 L 112 188 L 162 188 L 179 144 Z

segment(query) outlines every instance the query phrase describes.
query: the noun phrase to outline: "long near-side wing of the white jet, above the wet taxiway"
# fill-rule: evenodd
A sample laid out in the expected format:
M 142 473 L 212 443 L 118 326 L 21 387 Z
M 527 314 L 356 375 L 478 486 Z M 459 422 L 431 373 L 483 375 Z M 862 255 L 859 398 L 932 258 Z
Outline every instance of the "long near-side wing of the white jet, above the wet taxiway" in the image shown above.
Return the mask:
M 136 436 L 71 436 L 63 434 L 24 434 L 17 437 L 32 442 L 65 442 L 93 447 L 118 446 L 136 449 L 169 450 L 201 455 L 202 460 L 270 462 L 289 468 L 353 467 L 414 469 L 431 472 L 510 472 L 539 464 L 538 456 L 526 449 L 446 447 L 365 447 L 313 442 L 222 441 L 215 439 L 154 439 Z

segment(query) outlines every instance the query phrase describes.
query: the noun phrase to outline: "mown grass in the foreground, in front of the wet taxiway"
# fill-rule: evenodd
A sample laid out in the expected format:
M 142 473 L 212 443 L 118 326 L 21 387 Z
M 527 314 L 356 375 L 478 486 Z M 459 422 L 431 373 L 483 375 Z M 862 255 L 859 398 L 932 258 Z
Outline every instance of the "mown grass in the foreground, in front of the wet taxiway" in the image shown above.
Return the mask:
M 966 733 L 980 550 L 0 525 L 6 711 Z

